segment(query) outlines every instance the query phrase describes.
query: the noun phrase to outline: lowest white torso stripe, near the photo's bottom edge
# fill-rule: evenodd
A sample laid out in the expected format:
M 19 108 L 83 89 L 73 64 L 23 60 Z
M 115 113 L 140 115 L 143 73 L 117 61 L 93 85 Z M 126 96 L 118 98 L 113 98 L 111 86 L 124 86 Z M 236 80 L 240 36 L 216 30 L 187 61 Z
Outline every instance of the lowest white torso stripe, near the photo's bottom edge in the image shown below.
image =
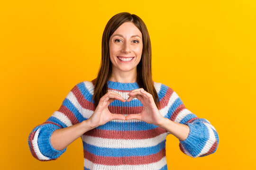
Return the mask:
M 142 165 L 102 165 L 84 158 L 83 166 L 90 170 L 159 170 L 167 164 L 166 156 L 160 161 Z

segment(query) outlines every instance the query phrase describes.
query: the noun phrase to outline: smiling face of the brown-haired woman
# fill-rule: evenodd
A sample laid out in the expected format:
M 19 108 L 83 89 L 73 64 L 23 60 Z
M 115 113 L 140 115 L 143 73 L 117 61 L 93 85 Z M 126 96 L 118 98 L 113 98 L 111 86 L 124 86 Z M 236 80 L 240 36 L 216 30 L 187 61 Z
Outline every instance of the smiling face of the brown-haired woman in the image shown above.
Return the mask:
M 114 71 L 134 71 L 142 55 L 142 34 L 132 22 L 125 22 L 110 36 L 110 60 Z

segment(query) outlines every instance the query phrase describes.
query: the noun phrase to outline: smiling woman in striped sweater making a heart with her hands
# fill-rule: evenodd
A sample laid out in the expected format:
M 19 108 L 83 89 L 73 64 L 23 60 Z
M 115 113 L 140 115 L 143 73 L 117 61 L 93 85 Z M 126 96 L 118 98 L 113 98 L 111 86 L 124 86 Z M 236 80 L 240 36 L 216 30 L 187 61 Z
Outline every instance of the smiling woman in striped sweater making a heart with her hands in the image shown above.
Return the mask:
M 193 158 L 214 153 L 219 144 L 208 120 L 152 80 L 146 25 L 122 12 L 105 27 L 97 78 L 75 85 L 60 109 L 32 130 L 28 144 L 35 158 L 50 161 L 81 137 L 84 170 L 165 170 L 168 134 Z

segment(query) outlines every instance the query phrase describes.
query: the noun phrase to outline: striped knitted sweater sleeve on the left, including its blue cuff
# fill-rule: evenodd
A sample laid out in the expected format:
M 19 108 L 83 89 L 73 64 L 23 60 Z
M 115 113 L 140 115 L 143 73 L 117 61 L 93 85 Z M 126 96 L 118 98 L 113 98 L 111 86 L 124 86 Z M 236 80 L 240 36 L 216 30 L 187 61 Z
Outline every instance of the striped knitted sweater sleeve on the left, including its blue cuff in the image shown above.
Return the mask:
M 33 128 L 28 136 L 28 146 L 32 155 L 39 161 L 56 160 L 66 148 L 56 150 L 51 142 L 52 133 L 59 128 L 73 126 L 82 122 L 82 83 L 75 85 L 67 94 L 59 110 L 54 113 L 42 124 Z

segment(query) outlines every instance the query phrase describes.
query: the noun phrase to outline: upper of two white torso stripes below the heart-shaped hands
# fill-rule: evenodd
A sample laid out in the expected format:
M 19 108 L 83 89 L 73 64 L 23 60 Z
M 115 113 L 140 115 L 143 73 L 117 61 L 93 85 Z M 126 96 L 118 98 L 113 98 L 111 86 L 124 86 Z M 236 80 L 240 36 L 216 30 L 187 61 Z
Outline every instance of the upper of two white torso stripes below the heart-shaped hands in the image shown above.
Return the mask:
M 166 139 L 167 133 L 147 139 L 109 139 L 82 135 L 82 141 L 97 147 L 108 148 L 137 148 L 155 146 Z

